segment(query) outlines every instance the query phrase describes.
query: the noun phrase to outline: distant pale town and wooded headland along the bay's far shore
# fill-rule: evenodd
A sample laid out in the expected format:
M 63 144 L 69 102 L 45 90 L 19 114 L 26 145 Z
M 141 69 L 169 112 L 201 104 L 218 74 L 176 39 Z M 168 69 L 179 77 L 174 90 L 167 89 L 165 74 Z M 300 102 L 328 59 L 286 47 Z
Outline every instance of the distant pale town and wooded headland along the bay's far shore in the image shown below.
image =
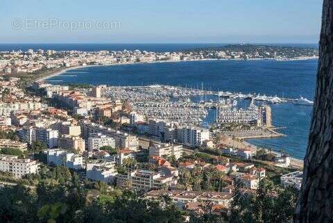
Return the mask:
M 275 59 L 293 60 L 318 57 L 311 48 L 261 46 L 251 44 L 227 45 L 218 49 L 194 49 L 178 52 L 150 51 L 1 51 L 0 73 L 17 74 L 76 67 L 80 65 L 112 65 L 119 63 L 149 63 L 162 61 L 212 60 L 212 59 Z

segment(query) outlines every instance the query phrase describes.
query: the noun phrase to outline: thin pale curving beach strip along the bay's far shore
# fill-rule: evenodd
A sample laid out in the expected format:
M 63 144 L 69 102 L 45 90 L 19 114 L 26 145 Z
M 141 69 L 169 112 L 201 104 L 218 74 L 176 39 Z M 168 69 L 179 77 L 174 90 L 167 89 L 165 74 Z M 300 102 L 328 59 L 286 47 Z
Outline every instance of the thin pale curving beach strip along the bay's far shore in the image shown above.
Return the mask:
M 300 57 L 300 58 L 289 58 L 289 59 L 280 59 L 280 58 L 248 58 L 246 60 L 275 60 L 275 61 L 298 61 L 298 60 L 315 60 L 318 59 L 318 56 L 314 57 Z M 149 63 L 179 63 L 179 62 L 191 62 L 191 61 L 212 61 L 212 60 L 244 60 L 241 58 L 235 59 L 217 59 L 217 58 L 207 58 L 207 59 L 198 59 L 198 60 L 158 60 L 158 61 L 150 61 L 150 62 L 127 62 L 127 63 L 110 63 L 110 64 L 103 64 L 103 65 L 78 65 L 74 67 L 64 67 L 64 69 L 54 72 L 52 74 L 43 76 L 36 81 L 46 81 L 47 79 L 52 78 L 53 76 L 58 76 L 63 74 L 69 70 L 79 69 L 83 67 L 105 67 L 105 66 L 114 66 L 114 65 L 133 65 L 133 64 L 149 64 Z

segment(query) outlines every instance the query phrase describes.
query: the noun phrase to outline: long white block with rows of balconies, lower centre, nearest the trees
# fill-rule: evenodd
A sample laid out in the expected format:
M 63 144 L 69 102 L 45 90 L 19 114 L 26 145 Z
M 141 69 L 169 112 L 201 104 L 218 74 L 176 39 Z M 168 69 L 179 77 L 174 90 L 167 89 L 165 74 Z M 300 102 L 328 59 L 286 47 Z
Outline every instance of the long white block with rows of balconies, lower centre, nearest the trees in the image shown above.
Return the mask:
M 135 170 L 128 172 L 127 175 L 117 175 L 117 186 L 120 188 L 128 187 L 135 190 L 161 189 L 163 185 L 176 185 L 177 178 L 173 175 L 165 175 L 162 172 L 151 170 Z

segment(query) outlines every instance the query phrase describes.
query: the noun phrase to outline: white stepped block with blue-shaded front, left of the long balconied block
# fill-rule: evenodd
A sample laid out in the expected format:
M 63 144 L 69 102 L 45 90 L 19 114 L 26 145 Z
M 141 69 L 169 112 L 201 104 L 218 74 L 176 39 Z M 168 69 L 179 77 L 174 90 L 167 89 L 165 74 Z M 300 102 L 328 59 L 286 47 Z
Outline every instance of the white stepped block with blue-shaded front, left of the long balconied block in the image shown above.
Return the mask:
M 86 165 L 87 179 L 92 181 L 103 181 L 105 183 L 113 183 L 118 172 L 115 162 L 108 160 L 92 160 Z

